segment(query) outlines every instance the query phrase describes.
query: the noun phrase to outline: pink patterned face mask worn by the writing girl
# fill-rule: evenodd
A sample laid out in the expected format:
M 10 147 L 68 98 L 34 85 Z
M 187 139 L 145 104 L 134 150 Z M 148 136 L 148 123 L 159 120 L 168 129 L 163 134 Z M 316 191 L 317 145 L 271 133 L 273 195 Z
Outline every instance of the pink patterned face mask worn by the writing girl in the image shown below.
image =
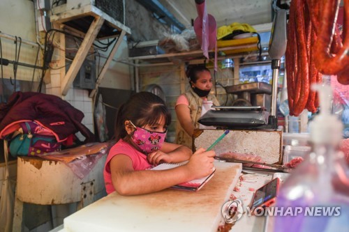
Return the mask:
M 130 123 L 135 127 L 135 131 L 132 135 L 132 141 L 142 150 L 144 153 L 149 154 L 156 150 L 159 150 L 163 146 L 165 141 L 165 132 L 153 132 L 141 127 L 136 127 L 131 121 Z

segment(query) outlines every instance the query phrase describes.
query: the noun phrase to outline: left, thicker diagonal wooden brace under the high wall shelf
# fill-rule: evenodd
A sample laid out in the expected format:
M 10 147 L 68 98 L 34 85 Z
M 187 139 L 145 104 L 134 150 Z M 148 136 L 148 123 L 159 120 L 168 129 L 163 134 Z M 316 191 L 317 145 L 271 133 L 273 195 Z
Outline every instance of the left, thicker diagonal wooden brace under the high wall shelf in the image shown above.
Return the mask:
M 70 68 L 66 73 L 66 76 L 61 81 L 62 95 L 66 95 L 66 93 L 68 93 L 70 85 L 73 83 L 77 75 L 77 72 L 79 72 L 81 65 L 84 62 L 84 59 L 86 58 L 92 43 L 96 39 L 98 31 L 101 29 L 101 26 L 103 25 L 103 22 L 104 19 L 100 16 L 97 16 L 94 22 L 92 22 L 91 26 L 89 27 L 89 31 L 87 31 L 86 36 L 81 43 L 81 47 L 77 51 L 77 54 L 75 55 L 75 58 L 71 63 Z

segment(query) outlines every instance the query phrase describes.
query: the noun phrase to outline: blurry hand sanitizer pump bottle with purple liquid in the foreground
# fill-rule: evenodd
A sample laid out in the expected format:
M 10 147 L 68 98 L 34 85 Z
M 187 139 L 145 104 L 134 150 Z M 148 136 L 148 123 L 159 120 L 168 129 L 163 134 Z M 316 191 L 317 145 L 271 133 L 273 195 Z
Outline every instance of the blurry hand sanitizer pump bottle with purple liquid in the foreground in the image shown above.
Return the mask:
M 343 125 L 330 113 L 331 87 L 312 87 L 320 114 L 309 125 L 311 153 L 281 185 L 274 232 L 349 231 L 349 171 L 339 151 Z

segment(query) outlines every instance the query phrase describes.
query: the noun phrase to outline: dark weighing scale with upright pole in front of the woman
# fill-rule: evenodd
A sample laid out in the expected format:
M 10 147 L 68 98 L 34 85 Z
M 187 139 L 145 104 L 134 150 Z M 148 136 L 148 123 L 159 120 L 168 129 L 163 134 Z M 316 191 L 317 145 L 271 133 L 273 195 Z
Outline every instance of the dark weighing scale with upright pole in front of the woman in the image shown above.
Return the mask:
M 226 86 L 227 93 L 237 94 L 231 107 L 216 107 L 199 119 L 202 125 L 220 129 L 264 130 L 278 128 L 276 117 L 277 84 L 281 57 L 286 49 L 286 10 L 276 11 L 269 42 L 273 84 L 253 82 Z M 269 110 L 270 105 L 270 110 Z

